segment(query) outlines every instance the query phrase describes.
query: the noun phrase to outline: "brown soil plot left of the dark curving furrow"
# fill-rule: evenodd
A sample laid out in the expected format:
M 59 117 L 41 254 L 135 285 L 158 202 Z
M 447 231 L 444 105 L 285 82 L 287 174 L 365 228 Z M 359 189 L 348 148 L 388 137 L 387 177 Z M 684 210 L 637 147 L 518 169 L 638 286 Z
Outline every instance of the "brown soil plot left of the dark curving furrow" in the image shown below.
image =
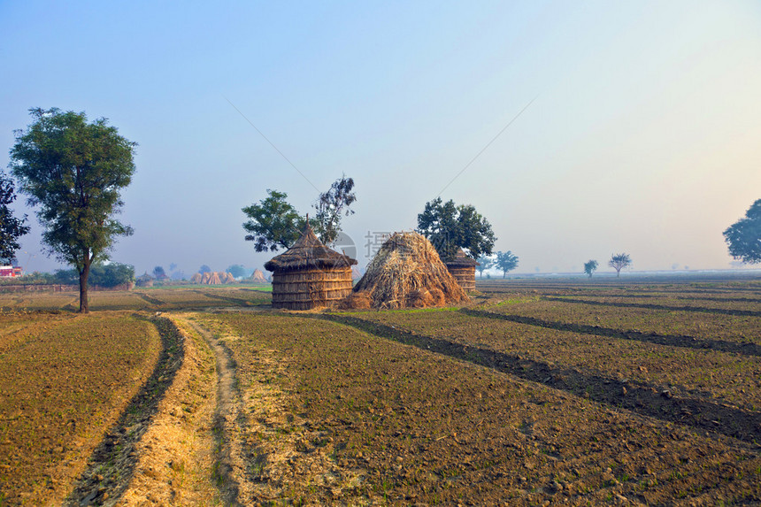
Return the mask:
M 60 504 L 158 360 L 127 314 L 3 315 L 0 503 Z

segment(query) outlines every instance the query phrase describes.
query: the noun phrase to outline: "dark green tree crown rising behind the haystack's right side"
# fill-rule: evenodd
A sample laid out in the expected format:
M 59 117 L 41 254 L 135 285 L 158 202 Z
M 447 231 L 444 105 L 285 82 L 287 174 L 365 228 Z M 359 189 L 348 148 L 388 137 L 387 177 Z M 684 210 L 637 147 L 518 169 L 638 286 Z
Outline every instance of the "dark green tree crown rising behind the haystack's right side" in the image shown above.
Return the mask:
M 426 203 L 418 215 L 417 231 L 434 244 L 444 260 L 454 258 L 459 249 L 473 258 L 491 255 L 496 241 L 491 224 L 473 205 L 444 203 L 441 197 Z

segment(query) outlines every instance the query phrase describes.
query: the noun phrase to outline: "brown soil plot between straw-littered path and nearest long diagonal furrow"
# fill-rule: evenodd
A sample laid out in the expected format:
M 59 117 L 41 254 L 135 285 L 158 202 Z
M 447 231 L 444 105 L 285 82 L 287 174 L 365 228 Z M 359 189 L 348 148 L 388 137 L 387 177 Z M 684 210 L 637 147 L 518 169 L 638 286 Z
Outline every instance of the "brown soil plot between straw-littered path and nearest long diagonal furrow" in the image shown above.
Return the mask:
M 425 320 L 425 313 L 418 315 Z M 262 351 L 284 366 L 268 380 L 281 390 L 286 419 L 265 421 L 285 434 L 309 428 L 311 440 L 296 450 L 327 456 L 337 467 L 333 475 L 356 477 L 351 487 L 334 490 L 325 480 L 309 488 L 302 473 L 270 465 L 279 462 L 265 448 L 253 463 L 263 469 L 260 477 L 288 492 L 281 499 L 479 505 L 761 499 L 761 458 L 733 439 L 442 357 L 425 344 L 421 350 L 315 319 L 213 319 L 239 336 L 229 346 L 241 378 L 261 370 L 252 358 Z M 247 443 L 259 449 L 258 440 Z

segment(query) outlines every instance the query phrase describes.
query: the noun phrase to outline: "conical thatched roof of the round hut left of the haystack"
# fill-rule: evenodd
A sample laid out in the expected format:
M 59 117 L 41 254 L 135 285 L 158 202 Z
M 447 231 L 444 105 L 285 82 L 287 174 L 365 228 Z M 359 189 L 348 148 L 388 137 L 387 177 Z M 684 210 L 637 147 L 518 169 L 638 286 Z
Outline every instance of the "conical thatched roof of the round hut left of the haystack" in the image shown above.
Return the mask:
M 319 241 L 307 222 L 301 237 L 284 253 L 265 264 L 267 271 L 289 271 L 309 268 L 350 267 L 357 259 L 330 250 Z

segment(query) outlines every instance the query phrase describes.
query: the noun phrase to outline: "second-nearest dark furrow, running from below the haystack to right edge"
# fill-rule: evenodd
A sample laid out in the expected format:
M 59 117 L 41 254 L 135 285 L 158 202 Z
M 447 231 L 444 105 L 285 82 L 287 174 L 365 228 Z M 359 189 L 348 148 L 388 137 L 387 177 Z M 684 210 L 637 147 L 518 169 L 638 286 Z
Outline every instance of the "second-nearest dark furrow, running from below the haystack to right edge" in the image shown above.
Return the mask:
M 557 320 L 536 319 L 535 317 L 527 317 L 524 315 L 511 315 L 508 313 L 472 310 L 469 308 L 462 308 L 460 309 L 460 312 L 465 313 L 465 315 L 470 315 L 471 317 L 507 320 L 517 324 L 544 327 L 547 329 L 555 329 L 557 331 L 570 331 L 572 333 L 578 334 L 594 334 L 596 336 L 604 336 L 606 338 L 619 338 L 621 340 L 649 342 L 656 343 L 657 345 L 683 347 L 686 349 L 720 350 L 721 352 L 730 352 L 739 354 L 741 356 L 761 356 L 761 346 L 752 342 L 738 343 L 727 342 L 726 340 L 703 340 L 685 334 L 642 333 L 641 331 L 629 331 L 603 326 L 590 326 L 588 324 L 561 322 Z

